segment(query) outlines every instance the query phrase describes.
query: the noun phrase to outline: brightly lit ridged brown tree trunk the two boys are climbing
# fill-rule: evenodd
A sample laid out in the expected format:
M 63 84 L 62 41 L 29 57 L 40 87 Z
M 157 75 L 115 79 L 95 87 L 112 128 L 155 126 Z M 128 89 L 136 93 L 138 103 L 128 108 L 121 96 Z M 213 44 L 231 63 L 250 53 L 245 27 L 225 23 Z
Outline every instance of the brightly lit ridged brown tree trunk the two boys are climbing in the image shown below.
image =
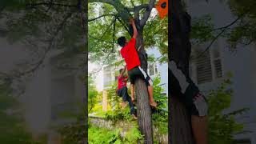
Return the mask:
M 142 65 L 142 69 L 146 71 L 147 69 L 147 54 L 144 50 L 143 44 L 143 30 L 138 29 L 138 37 L 136 47 L 141 46 L 138 50 L 138 56 Z M 153 129 L 152 129 L 152 118 L 149 94 L 146 86 L 146 82 L 142 79 L 135 80 L 135 94 L 137 98 L 137 112 L 138 112 L 138 126 L 141 133 L 144 135 L 144 142 L 146 144 L 153 144 Z

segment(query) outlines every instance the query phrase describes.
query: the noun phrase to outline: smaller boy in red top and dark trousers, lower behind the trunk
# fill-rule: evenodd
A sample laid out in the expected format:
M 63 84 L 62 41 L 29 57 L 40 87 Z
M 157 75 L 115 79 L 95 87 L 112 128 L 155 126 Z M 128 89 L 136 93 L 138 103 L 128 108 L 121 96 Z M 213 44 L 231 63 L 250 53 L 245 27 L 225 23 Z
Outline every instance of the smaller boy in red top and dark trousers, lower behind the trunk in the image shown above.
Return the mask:
M 126 77 L 124 75 L 126 71 L 126 66 L 124 69 L 120 69 L 119 72 L 119 76 L 118 76 L 118 96 L 122 97 L 122 106 L 124 107 L 124 105 L 126 104 L 126 102 L 128 102 L 129 106 L 130 106 L 130 114 L 133 116 L 134 119 L 137 119 L 136 117 L 136 110 L 134 109 L 134 104 L 131 101 L 131 98 L 128 94 L 128 89 L 126 86 L 126 82 L 128 77 Z

